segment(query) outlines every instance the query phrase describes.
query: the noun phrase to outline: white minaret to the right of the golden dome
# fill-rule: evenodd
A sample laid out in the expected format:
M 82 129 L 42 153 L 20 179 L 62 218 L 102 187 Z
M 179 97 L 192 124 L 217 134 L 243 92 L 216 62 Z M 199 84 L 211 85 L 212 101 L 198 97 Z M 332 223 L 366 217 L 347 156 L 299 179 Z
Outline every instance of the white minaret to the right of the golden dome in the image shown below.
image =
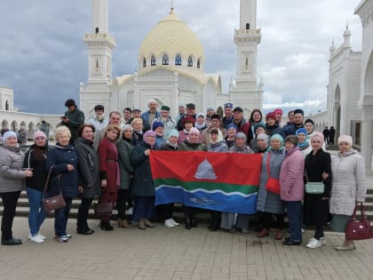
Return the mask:
M 237 46 L 236 80 L 230 100 L 234 106 L 246 108 L 245 116 L 253 108 L 263 107 L 263 83 L 257 85 L 257 49 L 261 33 L 257 29 L 257 0 L 240 0 L 240 29 L 234 30 Z

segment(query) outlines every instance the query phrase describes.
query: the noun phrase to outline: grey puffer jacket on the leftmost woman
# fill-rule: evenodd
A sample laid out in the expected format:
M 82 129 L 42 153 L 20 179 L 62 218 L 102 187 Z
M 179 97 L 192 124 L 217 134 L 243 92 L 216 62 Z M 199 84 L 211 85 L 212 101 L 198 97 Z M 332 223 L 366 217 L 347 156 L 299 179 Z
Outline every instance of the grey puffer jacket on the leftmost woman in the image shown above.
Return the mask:
M 0 193 L 21 191 L 25 187 L 24 157 L 20 148 L 0 148 Z

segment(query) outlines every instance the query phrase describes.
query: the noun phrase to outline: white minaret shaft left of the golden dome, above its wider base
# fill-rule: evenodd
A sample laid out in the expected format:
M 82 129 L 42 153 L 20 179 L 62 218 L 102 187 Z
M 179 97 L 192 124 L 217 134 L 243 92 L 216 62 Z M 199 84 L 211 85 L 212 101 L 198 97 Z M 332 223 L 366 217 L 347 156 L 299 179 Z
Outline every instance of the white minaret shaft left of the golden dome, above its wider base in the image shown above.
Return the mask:
M 114 37 L 108 34 L 107 0 L 91 0 L 91 34 L 84 36 L 88 45 L 88 83 L 111 83 Z

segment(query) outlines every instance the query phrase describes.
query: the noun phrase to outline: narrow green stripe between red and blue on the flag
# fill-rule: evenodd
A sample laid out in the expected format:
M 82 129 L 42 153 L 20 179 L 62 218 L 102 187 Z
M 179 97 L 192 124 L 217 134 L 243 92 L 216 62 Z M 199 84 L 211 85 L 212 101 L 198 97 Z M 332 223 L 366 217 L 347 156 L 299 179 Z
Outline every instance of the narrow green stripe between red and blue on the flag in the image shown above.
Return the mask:
M 186 190 L 194 190 L 198 188 L 206 189 L 208 191 L 220 189 L 225 193 L 233 193 L 233 192 L 240 192 L 244 195 L 249 195 L 252 193 L 258 192 L 258 186 L 251 186 L 251 185 L 234 185 L 234 184 L 226 184 L 226 183 L 218 183 L 212 181 L 183 181 L 177 180 L 173 178 L 168 179 L 155 179 L 155 188 L 161 185 L 169 185 L 169 186 L 182 186 Z

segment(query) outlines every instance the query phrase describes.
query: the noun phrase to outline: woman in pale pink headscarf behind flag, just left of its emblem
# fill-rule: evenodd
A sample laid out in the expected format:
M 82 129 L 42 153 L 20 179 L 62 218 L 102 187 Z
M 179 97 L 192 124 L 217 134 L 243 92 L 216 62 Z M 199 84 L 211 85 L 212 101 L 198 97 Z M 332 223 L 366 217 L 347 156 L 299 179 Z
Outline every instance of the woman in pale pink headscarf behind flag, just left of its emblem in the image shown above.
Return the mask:
M 192 127 L 189 136 L 179 146 L 180 151 L 206 151 L 206 145 L 199 140 L 201 133 L 195 127 Z M 186 229 L 197 228 L 197 222 L 194 219 L 194 207 L 184 206 L 186 215 Z

